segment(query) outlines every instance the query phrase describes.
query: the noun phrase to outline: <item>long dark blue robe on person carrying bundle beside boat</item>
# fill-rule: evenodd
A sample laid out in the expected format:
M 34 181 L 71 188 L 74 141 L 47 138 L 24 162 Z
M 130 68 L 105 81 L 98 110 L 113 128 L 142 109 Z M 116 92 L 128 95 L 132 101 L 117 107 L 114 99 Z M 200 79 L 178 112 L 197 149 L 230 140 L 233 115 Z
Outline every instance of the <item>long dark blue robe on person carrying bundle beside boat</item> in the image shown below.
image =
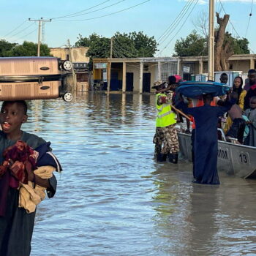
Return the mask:
M 217 123 L 232 106 L 227 102 L 225 107 L 203 105 L 202 107 L 187 108 L 180 102 L 177 108 L 192 115 L 195 119 L 195 162 L 194 178 L 200 184 L 219 184 L 217 172 L 218 138 Z

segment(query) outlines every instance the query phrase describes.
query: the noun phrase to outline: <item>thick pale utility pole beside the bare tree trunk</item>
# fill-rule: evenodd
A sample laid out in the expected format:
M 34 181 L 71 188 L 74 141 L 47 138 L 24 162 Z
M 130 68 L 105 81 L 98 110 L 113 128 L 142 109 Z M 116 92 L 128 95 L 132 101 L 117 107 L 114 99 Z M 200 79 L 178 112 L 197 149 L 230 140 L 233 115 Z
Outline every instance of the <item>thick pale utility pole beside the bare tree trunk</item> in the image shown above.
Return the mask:
M 209 0 L 208 80 L 214 80 L 214 0 Z

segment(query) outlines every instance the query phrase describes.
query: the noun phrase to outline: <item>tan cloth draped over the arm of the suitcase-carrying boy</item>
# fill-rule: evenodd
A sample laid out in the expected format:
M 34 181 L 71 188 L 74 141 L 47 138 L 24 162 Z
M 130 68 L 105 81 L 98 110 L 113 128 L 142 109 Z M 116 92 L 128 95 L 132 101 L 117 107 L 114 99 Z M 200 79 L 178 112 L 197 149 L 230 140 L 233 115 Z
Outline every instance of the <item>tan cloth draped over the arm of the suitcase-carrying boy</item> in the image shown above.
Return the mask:
M 34 174 L 39 178 L 48 179 L 53 176 L 53 171 L 56 170 L 53 166 L 40 166 L 34 170 Z M 29 184 L 20 183 L 19 207 L 26 209 L 27 213 L 34 212 L 37 205 L 45 199 L 45 187 L 39 185 L 33 186 L 33 182 Z M 33 188 L 34 187 L 34 188 Z

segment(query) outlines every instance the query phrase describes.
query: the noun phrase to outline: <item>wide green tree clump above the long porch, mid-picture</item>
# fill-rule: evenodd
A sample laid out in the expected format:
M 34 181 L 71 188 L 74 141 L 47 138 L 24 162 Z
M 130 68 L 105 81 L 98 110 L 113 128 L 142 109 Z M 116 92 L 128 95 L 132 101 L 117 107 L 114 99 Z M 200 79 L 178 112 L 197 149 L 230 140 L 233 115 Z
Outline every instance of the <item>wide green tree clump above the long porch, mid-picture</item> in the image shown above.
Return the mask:
M 91 34 L 89 37 L 78 36 L 75 46 L 89 47 L 87 56 L 91 59 L 109 58 L 110 57 L 110 38 L 101 37 L 97 34 Z M 140 32 L 121 34 L 116 32 L 113 36 L 113 58 L 136 58 L 136 57 L 153 57 L 157 51 L 157 42 L 154 37 L 148 37 Z

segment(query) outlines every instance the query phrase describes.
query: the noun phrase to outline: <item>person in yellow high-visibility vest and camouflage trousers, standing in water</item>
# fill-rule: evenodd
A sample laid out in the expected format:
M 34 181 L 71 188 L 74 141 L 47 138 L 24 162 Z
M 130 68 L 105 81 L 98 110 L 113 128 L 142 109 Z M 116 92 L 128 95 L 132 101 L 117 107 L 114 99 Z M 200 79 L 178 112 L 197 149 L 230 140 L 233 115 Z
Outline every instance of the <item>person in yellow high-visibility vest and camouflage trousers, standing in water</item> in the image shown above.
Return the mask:
M 165 88 L 165 82 L 158 81 L 152 86 L 152 89 L 159 91 Z M 157 120 L 156 134 L 154 136 L 155 157 L 158 162 L 168 159 L 169 162 L 176 164 L 178 162 L 178 135 L 175 128 L 176 113 L 173 112 L 170 105 L 172 101 L 164 93 L 158 93 L 156 97 Z

